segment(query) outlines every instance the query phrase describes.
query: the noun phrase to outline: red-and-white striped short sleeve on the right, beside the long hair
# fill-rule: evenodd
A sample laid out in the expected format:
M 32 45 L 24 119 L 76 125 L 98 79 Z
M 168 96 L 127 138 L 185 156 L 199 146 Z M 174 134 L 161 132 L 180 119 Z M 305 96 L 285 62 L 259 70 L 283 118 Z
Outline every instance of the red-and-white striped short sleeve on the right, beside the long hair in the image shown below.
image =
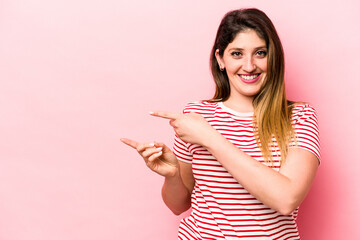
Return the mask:
M 308 150 L 320 162 L 319 128 L 315 109 L 308 104 L 295 106 L 293 110 L 293 125 L 296 143 L 292 143 L 290 147 Z

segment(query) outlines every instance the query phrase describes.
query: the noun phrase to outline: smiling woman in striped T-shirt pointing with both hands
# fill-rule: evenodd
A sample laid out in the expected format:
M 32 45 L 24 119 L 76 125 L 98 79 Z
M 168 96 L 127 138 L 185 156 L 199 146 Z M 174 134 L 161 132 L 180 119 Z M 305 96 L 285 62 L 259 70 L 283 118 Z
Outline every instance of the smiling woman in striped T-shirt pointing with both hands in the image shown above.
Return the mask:
M 179 239 L 300 239 L 297 209 L 319 163 L 315 110 L 288 101 L 284 55 L 271 20 L 258 9 L 227 13 L 210 57 L 213 99 L 189 103 L 170 119 L 172 152 L 137 143 L 165 177 L 162 197 L 181 214 Z

